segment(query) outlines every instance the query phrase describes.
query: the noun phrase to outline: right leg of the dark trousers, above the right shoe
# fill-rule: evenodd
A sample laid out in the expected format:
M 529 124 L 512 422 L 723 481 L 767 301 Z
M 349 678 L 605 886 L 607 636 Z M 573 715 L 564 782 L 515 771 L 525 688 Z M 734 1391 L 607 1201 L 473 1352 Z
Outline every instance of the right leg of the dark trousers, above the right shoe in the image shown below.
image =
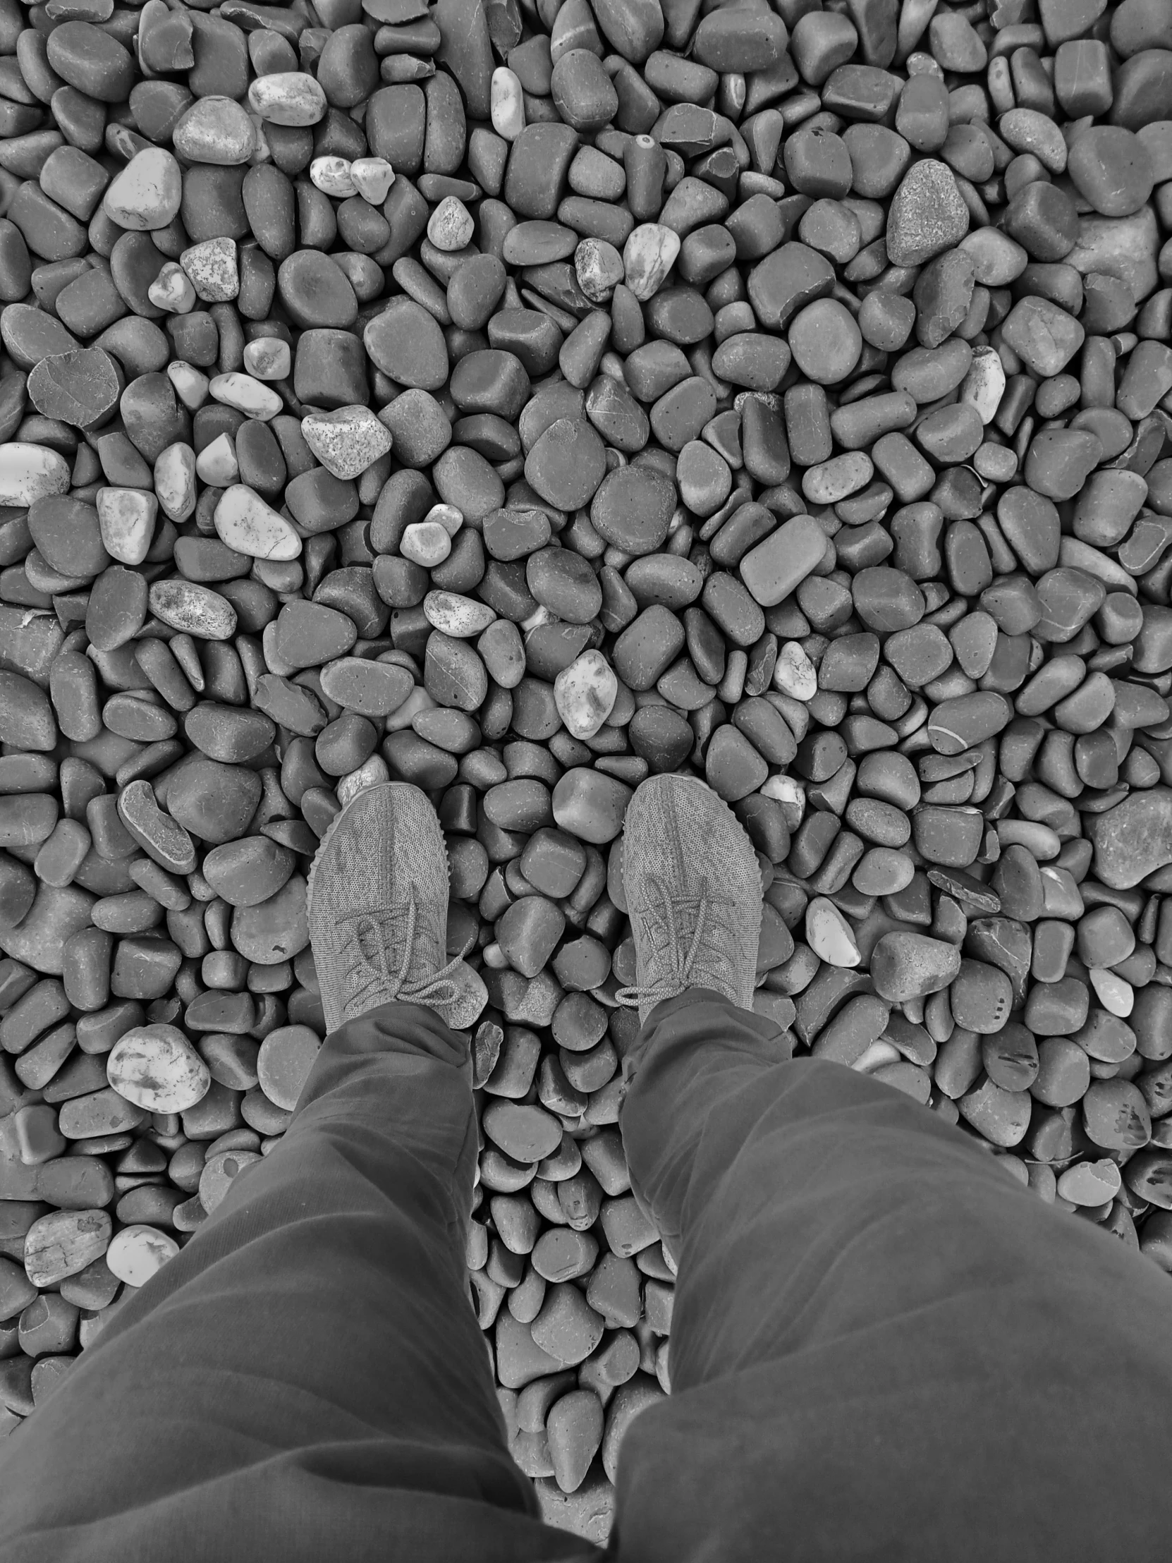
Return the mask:
M 659 1005 L 627 1069 L 631 1177 L 680 1275 L 674 1393 L 619 1460 L 620 1563 L 1167 1558 L 1150 1260 L 716 993 Z

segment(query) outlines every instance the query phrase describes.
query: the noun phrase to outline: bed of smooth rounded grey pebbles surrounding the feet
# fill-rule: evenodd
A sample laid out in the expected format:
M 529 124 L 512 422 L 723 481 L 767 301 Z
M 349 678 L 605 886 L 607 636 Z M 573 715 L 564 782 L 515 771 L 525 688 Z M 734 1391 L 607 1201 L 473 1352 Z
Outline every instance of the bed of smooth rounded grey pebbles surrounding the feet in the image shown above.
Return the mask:
M 1172 0 L 816 3 L 0 0 L 0 1430 L 280 1143 L 386 778 L 553 1522 L 670 1391 L 649 774 L 799 1055 L 1172 1271 Z

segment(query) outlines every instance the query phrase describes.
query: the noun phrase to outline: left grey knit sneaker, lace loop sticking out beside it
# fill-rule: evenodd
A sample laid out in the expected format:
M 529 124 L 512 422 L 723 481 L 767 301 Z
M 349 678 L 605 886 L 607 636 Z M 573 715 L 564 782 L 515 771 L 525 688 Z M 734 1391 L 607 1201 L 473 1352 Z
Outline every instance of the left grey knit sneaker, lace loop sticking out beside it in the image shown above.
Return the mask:
M 488 1003 L 478 974 L 447 960 L 447 850 L 408 782 L 364 788 L 334 816 L 309 869 L 309 942 L 327 1032 L 380 1003 L 425 1003 L 453 1030 Z

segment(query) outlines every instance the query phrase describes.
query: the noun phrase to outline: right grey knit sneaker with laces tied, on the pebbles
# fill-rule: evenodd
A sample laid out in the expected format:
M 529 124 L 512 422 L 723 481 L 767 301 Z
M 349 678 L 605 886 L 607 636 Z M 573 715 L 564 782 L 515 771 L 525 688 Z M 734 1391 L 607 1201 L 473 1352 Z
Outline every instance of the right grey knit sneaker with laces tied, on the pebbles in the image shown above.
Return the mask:
M 731 808 L 695 777 L 649 777 L 627 810 L 622 877 L 634 986 L 619 1003 L 645 1021 L 686 988 L 753 1008 L 761 869 Z

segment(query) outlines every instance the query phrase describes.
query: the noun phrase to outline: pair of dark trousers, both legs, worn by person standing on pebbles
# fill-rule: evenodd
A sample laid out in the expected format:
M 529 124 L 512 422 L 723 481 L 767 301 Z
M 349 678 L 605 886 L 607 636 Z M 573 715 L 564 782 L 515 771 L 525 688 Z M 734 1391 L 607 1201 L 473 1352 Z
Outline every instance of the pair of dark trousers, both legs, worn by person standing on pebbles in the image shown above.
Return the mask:
M 5 1563 L 602 1555 L 508 1454 L 464 1272 L 464 1053 L 414 1005 L 327 1041 L 283 1143 L 3 1446 Z M 1155 1264 L 717 994 L 659 1005 L 628 1071 L 680 1279 L 622 1563 L 1164 1563 Z

